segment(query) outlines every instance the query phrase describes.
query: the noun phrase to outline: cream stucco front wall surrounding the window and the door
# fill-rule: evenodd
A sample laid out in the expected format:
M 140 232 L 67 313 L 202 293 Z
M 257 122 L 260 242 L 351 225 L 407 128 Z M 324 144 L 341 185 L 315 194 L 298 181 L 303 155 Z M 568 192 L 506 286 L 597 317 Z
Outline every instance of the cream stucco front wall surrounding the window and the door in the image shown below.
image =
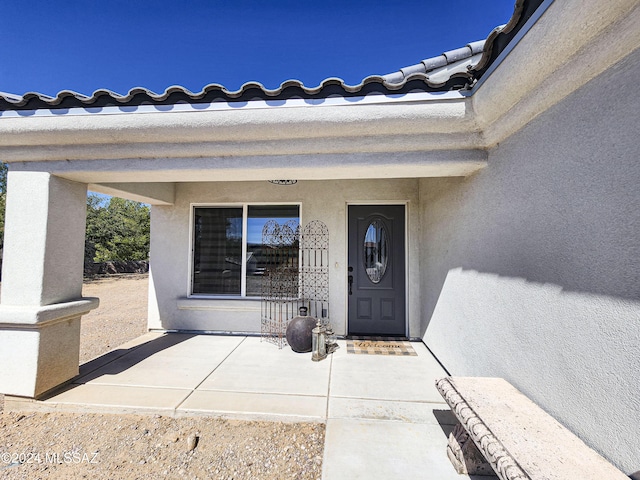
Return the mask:
M 189 213 L 192 203 L 300 202 L 302 224 L 321 220 L 329 228 L 330 318 L 336 333 L 346 327 L 346 224 L 348 203 L 407 202 L 409 329 L 420 335 L 418 288 L 418 180 L 300 181 L 279 186 L 261 182 L 180 183 L 175 204 L 151 210 L 149 328 L 260 332 L 259 299 L 187 299 Z

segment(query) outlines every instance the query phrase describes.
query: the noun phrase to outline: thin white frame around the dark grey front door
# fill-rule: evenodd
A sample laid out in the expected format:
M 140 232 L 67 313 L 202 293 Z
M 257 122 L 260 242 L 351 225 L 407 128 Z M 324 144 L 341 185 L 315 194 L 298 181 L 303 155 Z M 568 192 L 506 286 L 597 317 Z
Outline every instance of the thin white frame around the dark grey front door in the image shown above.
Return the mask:
M 344 268 L 343 268 L 343 280 L 344 280 L 344 332 L 345 335 L 349 334 L 349 287 L 347 282 L 347 268 L 349 266 L 349 206 L 351 205 L 397 205 L 404 207 L 404 336 L 409 337 L 409 206 L 408 200 L 363 200 L 363 201 L 349 201 L 345 203 L 344 214 Z

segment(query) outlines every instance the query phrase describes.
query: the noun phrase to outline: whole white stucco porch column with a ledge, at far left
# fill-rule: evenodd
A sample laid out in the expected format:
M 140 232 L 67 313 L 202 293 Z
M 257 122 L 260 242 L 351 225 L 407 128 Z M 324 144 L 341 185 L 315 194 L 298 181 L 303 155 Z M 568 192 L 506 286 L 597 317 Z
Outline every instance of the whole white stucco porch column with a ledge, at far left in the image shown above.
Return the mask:
M 0 302 L 0 393 L 37 397 L 78 373 L 85 184 L 9 172 Z

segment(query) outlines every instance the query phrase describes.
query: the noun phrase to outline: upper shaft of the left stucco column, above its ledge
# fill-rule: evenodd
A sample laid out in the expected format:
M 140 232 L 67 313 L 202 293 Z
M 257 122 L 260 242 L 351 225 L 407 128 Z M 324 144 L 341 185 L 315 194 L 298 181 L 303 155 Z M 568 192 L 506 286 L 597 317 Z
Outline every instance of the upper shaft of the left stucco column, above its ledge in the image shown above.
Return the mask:
M 82 297 L 87 187 L 47 172 L 9 172 L 2 304 Z

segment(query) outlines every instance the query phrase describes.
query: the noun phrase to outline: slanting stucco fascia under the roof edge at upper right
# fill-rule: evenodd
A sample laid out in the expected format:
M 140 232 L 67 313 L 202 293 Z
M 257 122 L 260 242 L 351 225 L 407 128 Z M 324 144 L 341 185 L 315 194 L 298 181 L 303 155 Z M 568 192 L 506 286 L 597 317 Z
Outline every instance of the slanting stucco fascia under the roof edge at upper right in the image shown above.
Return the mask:
M 471 93 L 491 148 L 640 47 L 637 0 L 551 2 Z

